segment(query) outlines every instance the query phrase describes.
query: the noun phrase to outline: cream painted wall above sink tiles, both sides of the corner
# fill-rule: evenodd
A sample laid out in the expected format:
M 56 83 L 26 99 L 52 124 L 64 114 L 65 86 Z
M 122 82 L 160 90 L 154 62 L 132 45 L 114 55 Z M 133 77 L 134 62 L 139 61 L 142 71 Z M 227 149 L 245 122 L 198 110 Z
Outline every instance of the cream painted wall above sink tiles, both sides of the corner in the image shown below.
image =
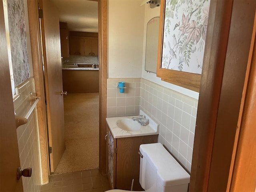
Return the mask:
M 164 82 L 146 72 L 146 29 L 148 21 L 160 15 L 160 7 L 140 6 L 142 0 L 108 1 L 108 78 L 145 78 L 192 98 L 199 93 Z

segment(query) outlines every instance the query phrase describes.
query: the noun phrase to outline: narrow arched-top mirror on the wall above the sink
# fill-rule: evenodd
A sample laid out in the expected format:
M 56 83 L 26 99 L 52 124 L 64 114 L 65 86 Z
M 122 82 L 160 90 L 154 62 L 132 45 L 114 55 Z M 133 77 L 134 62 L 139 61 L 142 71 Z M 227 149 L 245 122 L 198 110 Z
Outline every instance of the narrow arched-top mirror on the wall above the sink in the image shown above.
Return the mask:
M 147 24 L 145 71 L 153 73 L 156 73 L 159 20 L 160 17 L 154 17 Z

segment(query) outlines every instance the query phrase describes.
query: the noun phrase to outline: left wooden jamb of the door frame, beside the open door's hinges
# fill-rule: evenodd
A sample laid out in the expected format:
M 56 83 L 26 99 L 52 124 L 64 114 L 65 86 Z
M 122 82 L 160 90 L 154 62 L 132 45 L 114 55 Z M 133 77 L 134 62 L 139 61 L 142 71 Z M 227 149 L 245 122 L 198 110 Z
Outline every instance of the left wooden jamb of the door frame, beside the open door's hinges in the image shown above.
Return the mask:
M 36 96 L 41 99 L 37 104 L 38 128 L 40 140 L 40 154 L 42 165 L 42 183 L 48 183 L 48 176 L 50 173 L 49 155 L 48 155 L 48 130 L 45 106 L 45 92 L 44 92 L 44 74 L 42 71 L 42 50 L 40 40 L 40 28 L 38 19 L 38 4 L 37 1 L 28 1 L 28 19 L 30 30 L 30 43 L 32 52 L 33 72 L 35 79 Z

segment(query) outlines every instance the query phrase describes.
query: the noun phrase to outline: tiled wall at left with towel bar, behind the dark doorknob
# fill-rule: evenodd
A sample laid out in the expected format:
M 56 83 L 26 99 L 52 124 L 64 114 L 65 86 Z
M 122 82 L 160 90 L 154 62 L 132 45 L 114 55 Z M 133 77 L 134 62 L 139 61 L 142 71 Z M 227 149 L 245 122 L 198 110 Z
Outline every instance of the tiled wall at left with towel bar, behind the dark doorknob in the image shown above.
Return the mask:
M 34 79 L 29 78 L 16 87 L 14 109 L 17 116 L 23 117 L 30 108 L 29 93 L 35 93 Z M 18 148 L 21 169 L 32 168 L 32 176 L 22 177 L 24 192 L 39 192 L 41 185 L 38 121 L 36 108 L 28 118 L 28 123 L 17 128 Z

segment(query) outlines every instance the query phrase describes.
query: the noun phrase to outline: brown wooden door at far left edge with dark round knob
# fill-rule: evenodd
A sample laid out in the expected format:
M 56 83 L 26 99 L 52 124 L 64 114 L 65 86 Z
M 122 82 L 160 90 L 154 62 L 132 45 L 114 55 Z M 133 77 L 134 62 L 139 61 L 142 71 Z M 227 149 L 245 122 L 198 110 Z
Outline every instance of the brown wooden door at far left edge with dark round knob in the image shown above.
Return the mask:
M 0 1 L 0 42 L 0 191 L 23 191 L 22 180 L 16 179 L 20 158 L 2 1 Z

